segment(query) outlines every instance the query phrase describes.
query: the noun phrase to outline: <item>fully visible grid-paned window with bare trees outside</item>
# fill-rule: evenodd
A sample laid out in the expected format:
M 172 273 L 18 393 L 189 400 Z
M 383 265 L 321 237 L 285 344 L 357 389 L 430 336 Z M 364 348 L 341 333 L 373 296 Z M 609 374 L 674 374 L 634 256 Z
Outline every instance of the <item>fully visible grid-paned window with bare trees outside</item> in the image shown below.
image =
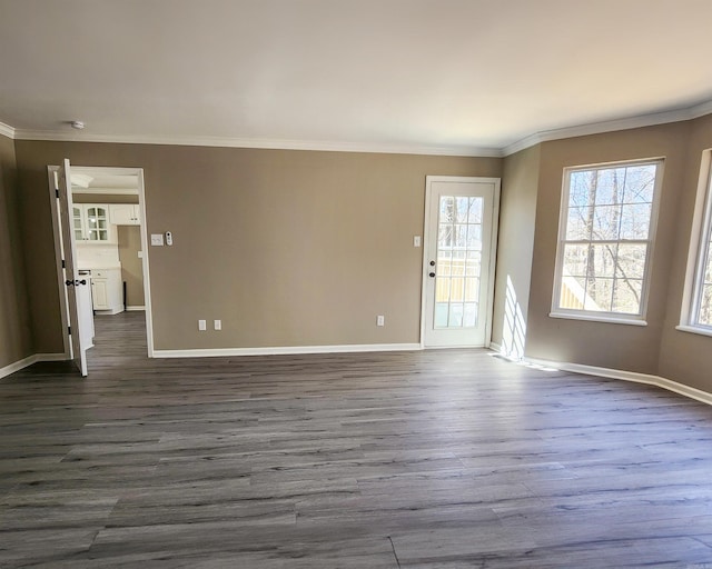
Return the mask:
M 644 325 L 662 160 L 564 170 L 552 316 Z

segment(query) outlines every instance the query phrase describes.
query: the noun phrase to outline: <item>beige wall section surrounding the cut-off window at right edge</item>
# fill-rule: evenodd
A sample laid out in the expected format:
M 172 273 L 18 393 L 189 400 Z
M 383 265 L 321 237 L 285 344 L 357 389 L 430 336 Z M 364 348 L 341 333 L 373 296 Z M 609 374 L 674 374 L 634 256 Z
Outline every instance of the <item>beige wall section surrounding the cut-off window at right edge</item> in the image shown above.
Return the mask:
M 688 144 L 684 184 L 680 192 L 671 284 L 665 328 L 660 350 L 660 375 L 664 378 L 712 392 L 712 338 L 675 330 L 680 323 L 685 264 L 702 151 L 712 148 L 712 116 L 693 122 Z

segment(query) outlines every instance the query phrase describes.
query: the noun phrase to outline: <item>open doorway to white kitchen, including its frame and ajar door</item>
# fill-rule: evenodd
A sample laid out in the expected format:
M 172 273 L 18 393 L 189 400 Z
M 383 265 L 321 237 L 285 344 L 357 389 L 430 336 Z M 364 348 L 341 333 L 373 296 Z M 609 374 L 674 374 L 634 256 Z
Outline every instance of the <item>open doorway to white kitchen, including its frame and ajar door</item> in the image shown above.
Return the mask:
M 152 357 L 142 169 L 70 168 L 66 161 L 49 166 L 48 174 L 67 358 L 86 375 L 95 317 L 132 311 L 146 315 L 146 348 Z

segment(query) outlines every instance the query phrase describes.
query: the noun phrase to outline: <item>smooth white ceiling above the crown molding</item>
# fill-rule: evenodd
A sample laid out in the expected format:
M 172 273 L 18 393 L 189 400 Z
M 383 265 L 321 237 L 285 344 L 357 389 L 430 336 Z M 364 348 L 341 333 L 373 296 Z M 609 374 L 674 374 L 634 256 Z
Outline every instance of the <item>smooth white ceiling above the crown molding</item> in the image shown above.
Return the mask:
M 708 112 L 711 22 L 712 0 L 0 0 L 0 122 L 16 138 L 496 153 Z

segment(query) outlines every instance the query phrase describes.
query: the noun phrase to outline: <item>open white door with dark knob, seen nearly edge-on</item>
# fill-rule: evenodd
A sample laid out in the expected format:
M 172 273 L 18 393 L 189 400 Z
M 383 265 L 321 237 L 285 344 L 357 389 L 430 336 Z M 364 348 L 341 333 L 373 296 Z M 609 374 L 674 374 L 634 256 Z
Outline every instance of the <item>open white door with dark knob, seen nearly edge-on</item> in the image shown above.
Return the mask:
M 62 167 L 57 171 L 57 204 L 61 226 L 61 244 L 65 261 L 65 286 L 67 287 L 67 311 L 69 312 L 69 337 L 71 340 L 71 359 L 82 377 L 87 376 L 87 348 L 86 337 L 82 333 L 82 322 L 79 318 L 78 287 L 89 287 L 86 276 L 80 276 L 76 264 L 77 249 L 72 239 L 72 208 L 71 198 L 71 171 L 69 160 L 65 159 Z

